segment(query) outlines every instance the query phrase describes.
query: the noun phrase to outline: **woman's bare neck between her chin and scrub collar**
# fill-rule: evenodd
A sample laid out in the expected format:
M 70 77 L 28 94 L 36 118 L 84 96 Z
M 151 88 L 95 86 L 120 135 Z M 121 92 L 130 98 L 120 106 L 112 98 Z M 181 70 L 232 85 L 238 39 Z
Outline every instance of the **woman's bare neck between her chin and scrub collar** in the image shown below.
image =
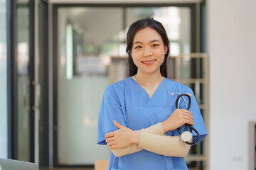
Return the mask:
M 161 84 L 161 81 L 163 81 L 164 77 L 161 76 L 160 72 L 149 74 L 139 72 L 138 70 L 137 74 L 135 75 L 135 79 L 139 85 L 151 89 L 155 86 L 159 86 L 159 84 Z

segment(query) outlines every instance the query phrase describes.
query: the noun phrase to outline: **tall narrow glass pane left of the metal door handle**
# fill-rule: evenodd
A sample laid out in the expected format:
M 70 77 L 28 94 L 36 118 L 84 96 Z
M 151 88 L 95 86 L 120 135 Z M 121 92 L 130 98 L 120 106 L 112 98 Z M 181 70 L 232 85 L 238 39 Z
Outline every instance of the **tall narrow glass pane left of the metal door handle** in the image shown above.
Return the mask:
M 17 1 L 16 6 L 16 50 L 17 50 L 17 88 L 18 125 L 17 159 L 33 162 L 33 135 L 31 130 L 31 60 L 30 60 L 30 8 L 29 1 Z

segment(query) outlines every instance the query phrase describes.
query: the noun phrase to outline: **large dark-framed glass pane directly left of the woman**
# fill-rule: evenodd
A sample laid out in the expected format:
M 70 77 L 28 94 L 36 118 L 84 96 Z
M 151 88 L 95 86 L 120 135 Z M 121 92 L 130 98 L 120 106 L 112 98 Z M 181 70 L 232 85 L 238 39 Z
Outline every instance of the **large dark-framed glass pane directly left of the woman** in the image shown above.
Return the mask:
M 58 10 L 58 164 L 109 159 L 97 118 L 110 56 L 122 54 L 122 8 Z

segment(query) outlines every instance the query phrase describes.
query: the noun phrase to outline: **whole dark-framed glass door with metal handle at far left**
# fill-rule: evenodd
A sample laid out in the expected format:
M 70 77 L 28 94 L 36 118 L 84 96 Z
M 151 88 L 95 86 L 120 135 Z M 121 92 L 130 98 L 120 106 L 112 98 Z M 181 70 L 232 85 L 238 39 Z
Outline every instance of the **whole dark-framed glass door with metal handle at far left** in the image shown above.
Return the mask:
M 48 169 L 48 5 L 16 0 L 9 6 L 9 158 Z

